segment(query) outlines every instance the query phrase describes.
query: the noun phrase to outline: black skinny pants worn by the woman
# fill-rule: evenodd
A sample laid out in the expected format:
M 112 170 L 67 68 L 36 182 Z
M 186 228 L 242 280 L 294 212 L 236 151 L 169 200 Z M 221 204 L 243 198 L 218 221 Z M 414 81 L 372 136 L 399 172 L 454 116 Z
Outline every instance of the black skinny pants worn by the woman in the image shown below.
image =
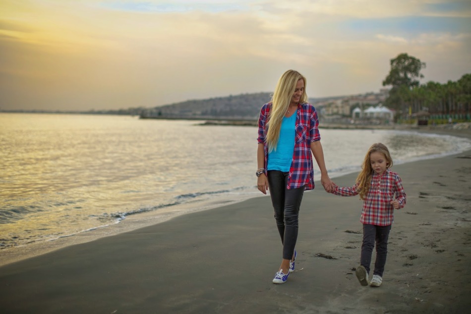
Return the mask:
M 268 188 L 275 209 L 276 226 L 283 244 L 283 258 L 291 260 L 296 246 L 299 207 L 304 187 L 287 189 L 288 176 L 288 172 L 268 171 Z

